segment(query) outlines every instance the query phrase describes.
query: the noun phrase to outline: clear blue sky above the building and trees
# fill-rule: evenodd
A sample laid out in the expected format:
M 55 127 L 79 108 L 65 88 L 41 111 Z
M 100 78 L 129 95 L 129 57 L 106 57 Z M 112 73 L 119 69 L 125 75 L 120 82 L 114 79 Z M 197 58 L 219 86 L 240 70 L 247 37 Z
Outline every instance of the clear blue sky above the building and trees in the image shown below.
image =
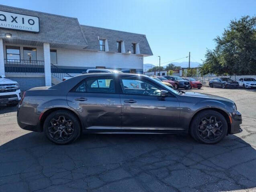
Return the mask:
M 10 0 L 0 4 L 78 18 L 80 24 L 145 34 L 158 64 L 201 62 L 232 19 L 256 15 L 256 0 Z M 177 62 L 188 61 L 188 58 Z

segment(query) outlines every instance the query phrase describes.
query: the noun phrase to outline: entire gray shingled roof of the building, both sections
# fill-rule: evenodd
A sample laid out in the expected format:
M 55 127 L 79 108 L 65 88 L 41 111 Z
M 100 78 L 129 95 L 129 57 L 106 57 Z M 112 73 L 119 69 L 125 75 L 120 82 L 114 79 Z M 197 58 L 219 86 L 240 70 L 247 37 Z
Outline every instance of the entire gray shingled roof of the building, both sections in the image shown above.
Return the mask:
M 108 40 L 109 52 L 117 52 L 117 41 L 125 42 L 125 52 L 132 50 L 132 43 L 139 43 L 140 54 L 153 55 L 147 38 L 143 34 L 80 25 L 77 18 L 59 16 L 21 8 L 0 5 L 1 11 L 39 17 L 39 33 L 0 29 L 0 38 L 11 33 L 12 38 L 4 42 L 41 46 L 43 42 L 54 48 L 71 48 L 99 51 L 99 38 Z

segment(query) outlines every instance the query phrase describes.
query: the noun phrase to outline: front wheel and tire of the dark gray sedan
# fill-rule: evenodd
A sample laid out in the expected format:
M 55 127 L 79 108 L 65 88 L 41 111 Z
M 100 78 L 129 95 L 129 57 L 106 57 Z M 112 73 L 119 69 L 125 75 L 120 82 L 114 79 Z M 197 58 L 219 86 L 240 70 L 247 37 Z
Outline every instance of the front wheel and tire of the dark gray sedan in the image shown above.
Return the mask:
M 190 135 L 204 144 L 220 142 L 227 135 L 227 120 L 217 111 L 203 110 L 193 118 Z

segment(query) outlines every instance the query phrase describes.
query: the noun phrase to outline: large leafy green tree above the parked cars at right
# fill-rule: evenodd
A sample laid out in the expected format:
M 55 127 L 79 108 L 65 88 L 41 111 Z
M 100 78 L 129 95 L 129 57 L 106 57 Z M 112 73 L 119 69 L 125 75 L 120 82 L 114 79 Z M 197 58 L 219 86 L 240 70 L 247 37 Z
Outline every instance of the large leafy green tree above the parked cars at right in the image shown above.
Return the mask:
M 222 36 L 214 39 L 216 47 L 207 50 L 201 74 L 255 74 L 256 16 L 231 20 Z

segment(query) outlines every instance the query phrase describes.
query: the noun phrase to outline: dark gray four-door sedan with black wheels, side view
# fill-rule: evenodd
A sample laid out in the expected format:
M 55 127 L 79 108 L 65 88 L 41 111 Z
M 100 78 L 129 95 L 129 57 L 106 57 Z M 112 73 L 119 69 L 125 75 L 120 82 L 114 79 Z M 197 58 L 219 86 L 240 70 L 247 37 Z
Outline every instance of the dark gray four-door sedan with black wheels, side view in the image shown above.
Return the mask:
M 242 131 L 236 104 L 209 94 L 176 91 L 139 74 L 91 73 L 25 92 L 21 128 L 44 132 L 56 144 L 83 133 L 189 133 L 214 144 Z

